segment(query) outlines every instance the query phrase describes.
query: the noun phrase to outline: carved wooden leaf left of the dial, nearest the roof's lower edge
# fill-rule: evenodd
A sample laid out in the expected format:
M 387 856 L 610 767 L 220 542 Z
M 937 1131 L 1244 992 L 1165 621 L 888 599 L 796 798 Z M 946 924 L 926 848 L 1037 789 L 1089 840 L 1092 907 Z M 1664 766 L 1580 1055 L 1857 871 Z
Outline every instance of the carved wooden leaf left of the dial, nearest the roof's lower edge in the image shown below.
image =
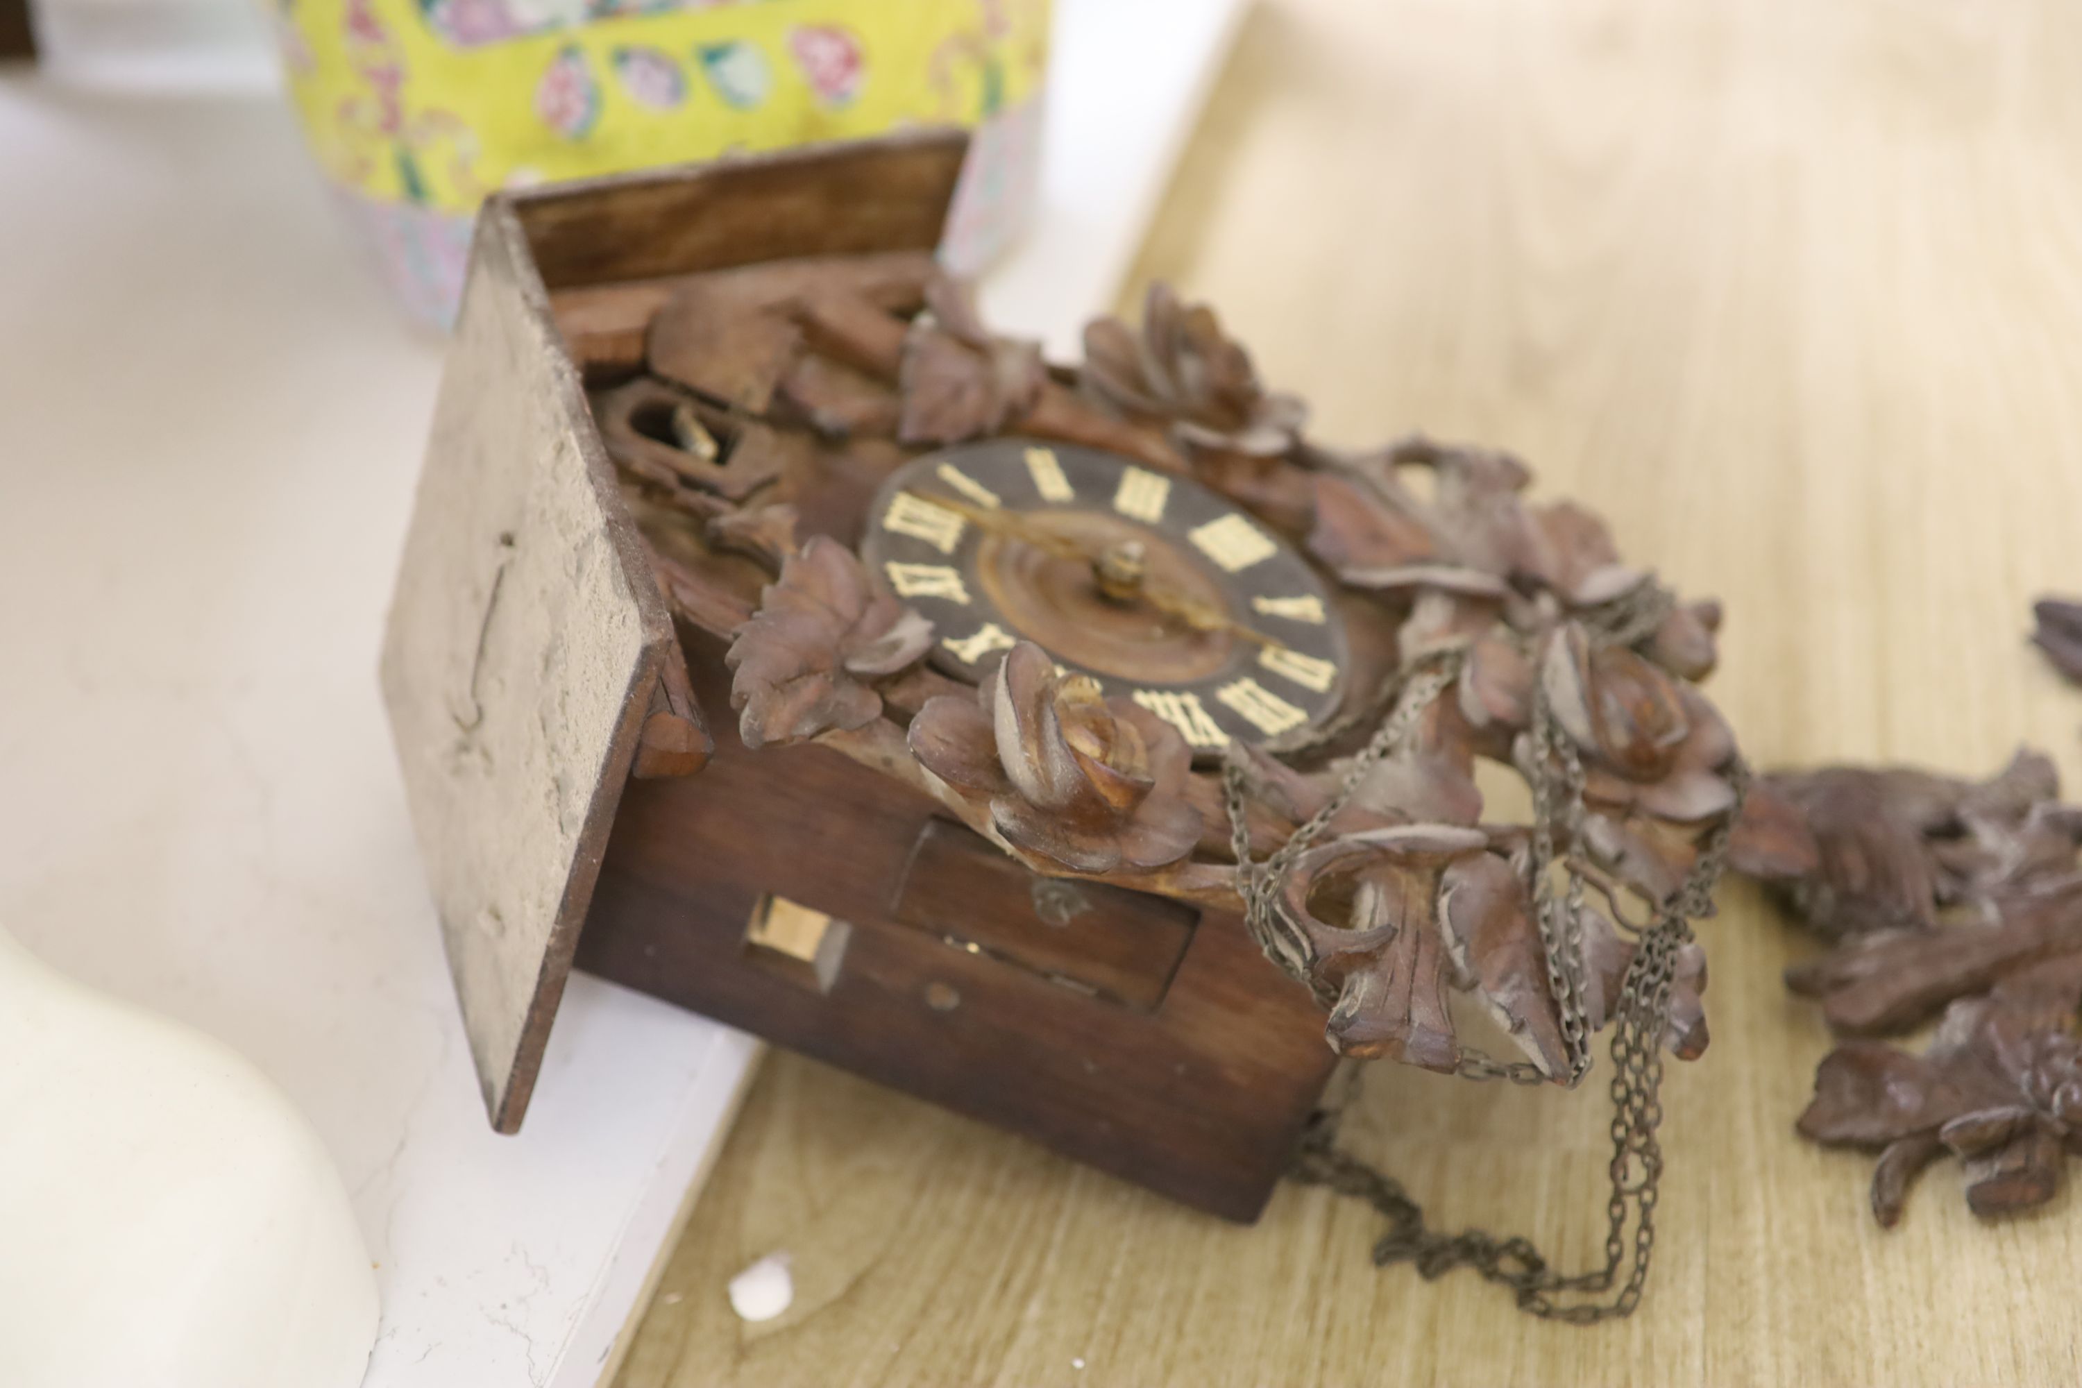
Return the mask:
M 852 549 L 824 535 L 781 564 L 760 608 L 725 656 L 731 708 L 754 751 L 833 728 L 860 728 L 883 712 L 877 676 L 895 674 L 933 645 L 933 626 L 868 581 Z

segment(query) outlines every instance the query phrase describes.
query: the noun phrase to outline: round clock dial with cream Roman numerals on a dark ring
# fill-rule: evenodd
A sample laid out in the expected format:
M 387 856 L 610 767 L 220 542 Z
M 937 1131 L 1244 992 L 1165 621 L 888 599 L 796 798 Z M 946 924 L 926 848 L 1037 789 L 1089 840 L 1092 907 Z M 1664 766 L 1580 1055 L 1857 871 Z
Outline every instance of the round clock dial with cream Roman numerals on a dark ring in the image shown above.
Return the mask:
M 860 551 L 933 622 L 947 674 L 983 678 L 1035 641 L 1201 757 L 1343 699 L 1345 631 L 1316 570 L 1199 483 L 1114 454 L 989 439 L 918 458 L 874 497 Z

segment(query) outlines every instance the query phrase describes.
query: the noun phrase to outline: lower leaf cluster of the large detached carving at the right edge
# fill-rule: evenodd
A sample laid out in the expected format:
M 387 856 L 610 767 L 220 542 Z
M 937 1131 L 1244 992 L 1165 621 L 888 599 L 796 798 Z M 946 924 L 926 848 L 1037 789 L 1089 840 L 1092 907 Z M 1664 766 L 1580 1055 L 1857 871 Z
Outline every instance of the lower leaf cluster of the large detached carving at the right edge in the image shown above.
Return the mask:
M 1816 1070 L 1803 1136 L 1880 1153 L 1872 1215 L 1901 1217 L 1915 1174 L 1951 1151 L 1967 1207 L 1986 1217 L 2042 1205 L 2063 1151 L 2082 1153 L 2082 955 L 2040 963 L 1953 1003 L 1930 1049 L 1849 1040 Z

